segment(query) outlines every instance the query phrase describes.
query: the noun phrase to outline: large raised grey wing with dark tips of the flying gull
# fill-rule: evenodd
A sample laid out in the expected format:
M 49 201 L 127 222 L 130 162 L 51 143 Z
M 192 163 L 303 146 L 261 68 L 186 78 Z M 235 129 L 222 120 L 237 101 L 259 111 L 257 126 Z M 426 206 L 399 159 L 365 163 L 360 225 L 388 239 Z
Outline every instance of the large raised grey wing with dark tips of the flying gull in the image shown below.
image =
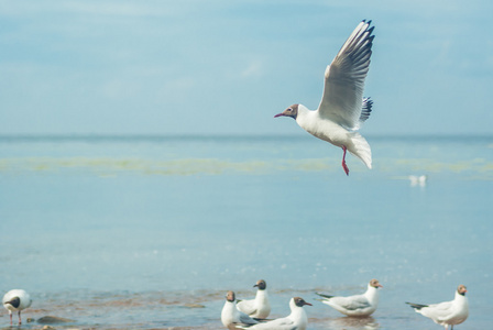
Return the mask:
M 364 79 L 370 68 L 374 26 L 362 21 L 352 32 L 341 50 L 327 66 L 324 96 L 318 107 L 320 116 L 349 129 L 357 130 L 363 107 Z

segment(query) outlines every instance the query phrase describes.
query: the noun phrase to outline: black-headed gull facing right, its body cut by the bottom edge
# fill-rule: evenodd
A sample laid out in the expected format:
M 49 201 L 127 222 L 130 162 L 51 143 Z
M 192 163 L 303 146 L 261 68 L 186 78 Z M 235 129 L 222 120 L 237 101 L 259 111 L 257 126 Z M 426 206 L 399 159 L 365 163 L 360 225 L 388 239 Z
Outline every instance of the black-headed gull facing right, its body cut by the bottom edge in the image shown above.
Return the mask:
M 303 306 L 311 304 L 303 298 L 294 297 L 289 300 L 291 314 L 281 319 L 275 319 L 265 323 L 258 323 L 251 327 L 238 327 L 239 329 L 251 330 L 306 330 L 308 318 Z

